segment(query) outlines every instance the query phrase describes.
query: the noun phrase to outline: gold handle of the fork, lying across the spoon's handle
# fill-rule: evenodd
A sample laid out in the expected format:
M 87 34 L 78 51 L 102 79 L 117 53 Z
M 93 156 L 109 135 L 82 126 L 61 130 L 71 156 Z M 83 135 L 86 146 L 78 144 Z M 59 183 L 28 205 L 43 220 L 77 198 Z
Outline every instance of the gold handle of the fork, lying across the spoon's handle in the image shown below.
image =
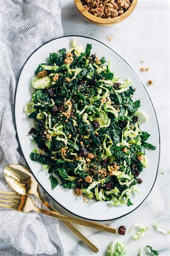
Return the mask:
M 117 228 L 104 226 L 104 225 L 94 223 L 94 222 L 91 222 L 91 221 L 88 221 L 88 220 L 82 220 L 82 219 L 77 219 L 77 218 L 70 217 L 70 216 L 61 215 L 61 214 L 58 214 L 57 212 L 53 212 L 53 211 L 52 212 L 45 211 L 41 208 L 37 208 L 37 211 L 42 213 L 42 214 L 46 214 L 48 216 L 55 217 L 59 220 L 69 221 L 69 222 L 72 222 L 72 223 L 75 223 L 75 224 L 79 224 L 79 225 L 86 226 L 86 227 L 89 227 L 89 228 L 98 229 L 98 230 L 109 232 L 109 233 L 114 233 L 114 234 L 117 233 Z

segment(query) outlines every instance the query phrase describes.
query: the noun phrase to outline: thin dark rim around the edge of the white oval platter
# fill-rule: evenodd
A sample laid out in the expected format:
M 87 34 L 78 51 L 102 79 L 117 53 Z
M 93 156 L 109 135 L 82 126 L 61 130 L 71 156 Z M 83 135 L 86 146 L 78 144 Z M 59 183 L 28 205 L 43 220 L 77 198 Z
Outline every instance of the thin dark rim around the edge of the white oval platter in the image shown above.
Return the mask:
M 32 54 L 29 55 L 29 57 L 27 58 L 27 60 L 26 60 L 25 63 L 23 64 L 23 67 L 22 67 L 22 69 L 21 69 L 21 71 L 20 71 L 20 74 L 19 74 L 19 78 L 20 78 L 20 75 L 21 75 L 21 73 L 22 73 L 22 70 L 23 70 L 25 64 L 27 63 L 27 61 L 29 60 L 29 58 L 30 58 L 39 48 L 41 48 L 43 45 L 48 44 L 49 42 L 51 42 L 51 41 L 53 41 L 53 40 L 60 39 L 60 38 L 63 38 L 63 37 L 84 37 L 84 38 L 88 38 L 88 39 L 91 39 L 91 40 L 95 40 L 95 41 L 99 42 L 100 44 L 103 44 L 104 46 L 106 46 L 106 47 L 109 48 L 111 51 L 113 51 L 116 55 L 119 56 L 119 54 L 117 54 L 114 50 L 112 50 L 109 46 L 105 45 L 103 42 L 100 42 L 99 40 L 96 40 L 96 39 L 93 39 L 93 38 L 90 38 L 90 37 L 87 37 L 87 36 L 70 35 L 70 36 L 57 37 L 57 38 L 54 38 L 54 39 L 51 39 L 51 40 L 45 42 L 44 44 L 42 44 L 41 46 L 39 46 L 36 50 L 34 50 Z M 129 64 L 128 64 L 121 56 L 119 56 L 119 58 L 121 58 L 121 59 L 127 64 L 127 66 L 132 70 L 132 72 L 134 73 L 134 75 L 136 75 L 136 73 L 135 73 L 134 70 L 129 66 Z M 152 188 L 153 188 L 153 187 L 154 187 L 154 184 L 155 184 L 155 181 L 156 181 L 156 178 L 157 178 L 157 173 L 158 173 L 158 169 L 159 169 L 159 162 L 160 162 L 160 130 L 159 130 L 159 124 L 158 124 L 158 120 L 157 120 L 157 116 L 156 116 L 156 112 L 155 112 L 155 108 L 154 108 L 154 105 L 153 105 L 153 103 L 152 103 L 152 100 L 151 100 L 151 98 L 150 98 L 150 96 L 149 96 L 149 94 L 148 94 L 148 92 L 147 92 L 145 86 L 143 85 L 142 81 L 140 80 L 140 78 L 139 78 L 137 75 L 136 75 L 136 77 L 137 77 L 138 80 L 141 82 L 141 84 L 142 84 L 144 90 L 146 91 L 146 93 L 147 93 L 147 95 L 148 95 L 148 98 L 150 99 L 150 102 L 151 102 L 151 104 L 152 104 L 152 108 L 154 109 L 154 113 L 155 113 L 155 117 L 156 117 L 156 122 L 157 122 L 157 127 L 158 127 L 158 131 L 159 131 L 159 160 L 158 160 L 158 165 L 157 165 L 156 177 L 155 177 L 154 183 L 153 183 L 153 185 L 152 185 Z M 14 113 L 15 113 L 15 103 L 16 103 L 16 91 L 17 91 L 17 87 L 18 87 L 19 78 L 18 78 L 18 81 L 17 81 L 16 89 L 15 89 Z M 15 113 L 15 114 L 16 114 L 16 113 Z M 22 155 L 23 155 L 23 158 L 24 158 L 24 160 L 25 160 L 25 157 L 24 157 L 24 154 L 23 154 L 23 151 L 22 151 L 20 142 L 19 142 L 18 132 L 17 132 L 17 129 L 16 129 L 16 118 L 14 118 L 14 119 L 15 119 L 16 138 L 17 138 L 17 140 L 18 140 L 18 144 L 19 144 L 19 147 L 20 147 L 20 151 L 21 151 L 21 153 L 22 153 Z M 26 160 L 25 160 L 25 162 L 27 163 Z M 27 163 L 27 166 L 29 167 L 28 163 Z M 29 169 L 30 169 L 30 167 L 29 167 Z M 30 171 L 31 171 L 31 169 L 30 169 Z M 31 173 L 32 173 L 32 175 L 34 176 L 34 174 L 33 174 L 32 171 L 31 171 Z M 37 178 L 36 178 L 35 176 L 34 176 L 34 178 L 36 179 L 36 181 L 38 182 L 38 184 L 42 187 L 42 185 L 39 183 L 39 181 L 37 180 Z M 43 188 L 43 187 L 42 187 L 42 188 Z M 152 188 L 151 188 L 151 190 L 152 190 Z M 43 188 L 43 189 L 44 189 L 44 188 Z M 150 192 L 148 193 L 148 195 L 151 193 L 151 190 L 150 190 Z M 46 191 L 46 189 L 44 189 L 44 191 Z M 80 218 L 82 218 L 82 219 L 93 220 L 93 221 L 109 221 L 109 220 L 116 220 L 116 219 L 119 219 L 119 218 L 121 218 L 121 217 L 124 217 L 124 216 L 130 214 L 131 212 L 133 212 L 134 210 L 136 210 L 138 207 L 140 207 L 140 206 L 142 205 L 142 203 L 143 203 L 143 202 L 146 200 L 146 198 L 148 197 L 148 195 L 147 195 L 147 196 L 145 197 L 145 199 L 143 199 L 143 201 L 140 203 L 140 205 L 138 205 L 136 208 L 134 208 L 134 210 L 129 211 L 127 214 L 124 214 L 124 215 L 122 215 L 122 216 L 120 216 L 120 217 L 113 218 L 113 219 L 96 220 L 96 219 L 85 218 L 85 217 L 82 217 L 82 216 L 80 216 L 80 215 L 78 215 L 78 214 L 75 214 L 75 213 L 71 212 L 71 211 L 68 210 L 66 207 L 64 207 L 64 206 L 62 206 L 60 203 L 58 203 L 47 191 L 46 191 L 46 193 L 47 193 L 58 205 L 60 205 L 61 207 L 63 207 L 65 210 L 67 210 L 67 211 L 70 212 L 71 214 L 74 214 L 74 215 L 76 215 L 76 216 L 78 216 L 78 217 L 80 217 Z

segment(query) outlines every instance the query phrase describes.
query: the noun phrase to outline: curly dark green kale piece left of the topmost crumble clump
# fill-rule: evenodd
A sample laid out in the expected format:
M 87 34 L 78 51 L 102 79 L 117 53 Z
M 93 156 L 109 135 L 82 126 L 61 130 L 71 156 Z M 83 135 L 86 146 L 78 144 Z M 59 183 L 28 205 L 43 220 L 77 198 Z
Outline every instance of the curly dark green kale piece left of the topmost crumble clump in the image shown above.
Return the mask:
M 64 63 L 64 59 L 66 57 L 66 49 L 62 48 L 57 53 L 50 53 L 48 58 L 49 66 L 53 66 L 56 63 L 57 66 L 61 66 Z

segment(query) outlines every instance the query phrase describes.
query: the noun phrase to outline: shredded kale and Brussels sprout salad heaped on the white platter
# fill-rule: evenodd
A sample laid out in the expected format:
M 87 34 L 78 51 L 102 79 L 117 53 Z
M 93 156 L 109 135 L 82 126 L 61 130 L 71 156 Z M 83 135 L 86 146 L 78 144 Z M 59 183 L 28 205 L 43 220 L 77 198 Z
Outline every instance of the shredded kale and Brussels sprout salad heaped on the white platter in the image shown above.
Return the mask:
M 29 134 L 39 150 L 30 159 L 48 170 L 52 189 L 59 184 L 76 196 L 130 206 L 148 167 L 145 149 L 156 149 L 140 129 L 147 117 L 110 60 L 91 54 L 91 44 L 84 50 L 71 43 L 50 53 L 32 79 L 35 92 L 24 110 L 36 122 Z

